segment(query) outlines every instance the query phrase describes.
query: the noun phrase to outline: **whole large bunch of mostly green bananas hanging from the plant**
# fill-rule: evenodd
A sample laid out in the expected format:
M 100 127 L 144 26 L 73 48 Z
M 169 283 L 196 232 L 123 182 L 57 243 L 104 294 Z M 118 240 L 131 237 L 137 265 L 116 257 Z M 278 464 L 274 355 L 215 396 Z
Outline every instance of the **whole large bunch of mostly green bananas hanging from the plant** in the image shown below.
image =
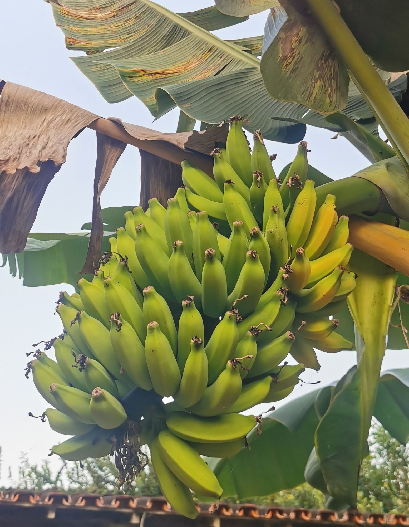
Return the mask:
M 190 491 L 222 494 L 201 456 L 235 455 L 260 421 L 240 412 L 318 370 L 314 348 L 352 347 L 332 315 L 356 285 L 348 218 L 334 196 L 317 207 L 306 143 L 283 181 L 258 132 L 250 153 L 240 118 L 212 154 L 214 180 L 184 161 L 167 209 L 153 198 L 126 212 L 92 282 L 60 295 L 64 331 L 45 346 L 56 362 L 38 350 L 27 366 L 52 406 L 43 420 L 73 436 L 53 453 L 113 450 L 126 465 L 148 444 L 164 495 L 191 518 Z

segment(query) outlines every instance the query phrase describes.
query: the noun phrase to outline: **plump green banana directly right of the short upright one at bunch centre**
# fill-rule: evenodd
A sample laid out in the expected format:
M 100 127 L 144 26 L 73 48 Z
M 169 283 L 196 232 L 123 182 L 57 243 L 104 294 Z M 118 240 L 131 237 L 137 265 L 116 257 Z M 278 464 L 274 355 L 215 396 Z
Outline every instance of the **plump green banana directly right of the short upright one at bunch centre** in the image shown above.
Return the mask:
M 231 309 L 238 302 L 242 317 L 252 313 L 260 300 L 264 289 L 264 269 L 257 251 L 247 251 L 246 262 L 240 271 L 235 288 L 227 297 L 226 309 Z

